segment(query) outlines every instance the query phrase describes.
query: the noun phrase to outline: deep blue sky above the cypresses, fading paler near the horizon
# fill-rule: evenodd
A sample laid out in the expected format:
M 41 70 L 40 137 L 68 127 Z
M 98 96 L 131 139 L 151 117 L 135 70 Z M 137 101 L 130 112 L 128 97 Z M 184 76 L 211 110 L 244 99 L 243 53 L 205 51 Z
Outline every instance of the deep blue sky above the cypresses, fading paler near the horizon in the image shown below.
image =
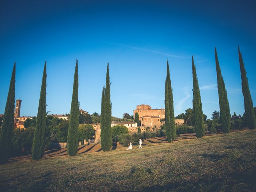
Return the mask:
M 164 108 L 166 60 L 174 113 L 192 108 L 194 55 L 203 112 L 219 110 L 214 47 L 230 112 L 244 112 L 237 46 L 242 51 L 256 106 L 256 2 L 244 1 L 1 1 L 0 114 L 16 61 L 21 115 L 37 114 L 44 61 L 47 110 L 70 112 L 76 58 L 80 108 L 100 113 L 107 62 L 112 115 L 133 114 L 139 104 Z

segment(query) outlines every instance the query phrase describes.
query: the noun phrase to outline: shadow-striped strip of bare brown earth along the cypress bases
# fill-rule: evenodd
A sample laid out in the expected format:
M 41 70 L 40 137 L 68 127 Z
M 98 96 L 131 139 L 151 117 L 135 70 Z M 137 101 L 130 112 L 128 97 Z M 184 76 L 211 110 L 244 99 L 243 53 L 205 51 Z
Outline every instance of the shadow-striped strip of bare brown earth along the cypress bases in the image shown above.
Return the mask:
M 238 131 L 246 131 L 248 129 L 241 129 L 241 130 L 232 130 L 231 132 L 238 132 Z M 204 136 L 212 136 L 216 134 L 224 134 L 221 132 L 221 130 L 217 130 L 216 133 L 210 133 L 210 132 L 205 132 Z M 196 134 L 195 133 L 186 133 L 186 134 L 181 134 L 177 136 L 176 140 L 174 142 L 178 142 L 180 140 L 190 140 L 190 139 L 196 139 Z M 161 138 L 150 138 L 150 139 L 144 139 L 143 144 L 144 146 L 148 144 L 161 144 L 161 143 L 167 143 L 166 137 L 161 137 Z M 111 147 L 110 150 L 116 150 L 120 148 L 125 148 L 122 145 L 118 143 L 114 143 L 113 146 Z M 84 153 L 92 153 L 92 152 L 100 152 L 101 146 L 100 143 L 91 143 L 90 145 L 82 145 L 78 147 L 78 154 L 84 154 Z M 43 158 L 51 158 L 51 157 L 57 157 L 57 156 L 68 156 L 67 148 L 62 148 L 62 149 L 54 149 L 54 150 L 47 150 L 44 152 L 44 157 Z M 9 162 L 15 162 L 19 160 L 30 160 L 32 159 L 32 155 L 23 155 L 23 156 L 18 156 L 18 157 L 12 157 L 9 159 Z

